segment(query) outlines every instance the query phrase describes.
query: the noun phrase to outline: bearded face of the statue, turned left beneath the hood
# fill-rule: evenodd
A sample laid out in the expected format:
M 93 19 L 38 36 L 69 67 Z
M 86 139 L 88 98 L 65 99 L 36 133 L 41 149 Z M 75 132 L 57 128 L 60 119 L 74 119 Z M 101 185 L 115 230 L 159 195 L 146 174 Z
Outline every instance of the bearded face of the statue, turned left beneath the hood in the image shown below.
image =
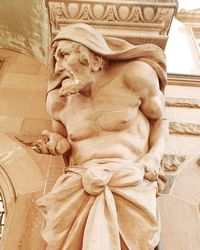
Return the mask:
M 86 53 L 82 53 L 84 52 Z M 82 52 L 81 52 L 82 51 Z M 70 95 L 81 91 L 91 82 L 89 50 L 75 42 L 59 41 L 54 54 L 54 73 L 61 84 L 60 95 Z

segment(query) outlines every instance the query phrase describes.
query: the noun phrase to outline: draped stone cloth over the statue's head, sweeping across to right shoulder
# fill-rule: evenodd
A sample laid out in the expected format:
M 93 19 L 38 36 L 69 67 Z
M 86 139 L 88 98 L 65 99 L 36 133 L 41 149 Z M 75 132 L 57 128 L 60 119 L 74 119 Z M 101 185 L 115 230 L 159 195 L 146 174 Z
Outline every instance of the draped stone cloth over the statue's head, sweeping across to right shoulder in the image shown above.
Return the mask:
M 157 73 L 161 91 L 166 86 L 166 60 L 163 50 L 154 44 L 134 46 L 116 37 L 103 37 L 93 27 L 84 23 L 68 25 L 60 30 L 52 41 L 73 41 L 80 43 L 96 53 L 110 60 L 140 60 L 148 63 Z M 53 55 L 50 64 L 53 63 Z M 51 65 L 50 65 L 51 66 Z M 49 82 L 48 92 L 55 89 L 58 83 Z

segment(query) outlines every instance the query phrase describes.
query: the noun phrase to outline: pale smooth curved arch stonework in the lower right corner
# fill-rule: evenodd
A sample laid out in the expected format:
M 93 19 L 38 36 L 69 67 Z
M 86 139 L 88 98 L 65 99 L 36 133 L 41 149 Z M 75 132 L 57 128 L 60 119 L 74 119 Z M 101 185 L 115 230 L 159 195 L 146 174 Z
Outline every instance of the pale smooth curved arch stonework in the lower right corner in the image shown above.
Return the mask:
M 200 245 L 199 154 L 183 163 L 169 195 L 158 198 L 161 215 L 161 240 L 163 249 L 198 249 Z

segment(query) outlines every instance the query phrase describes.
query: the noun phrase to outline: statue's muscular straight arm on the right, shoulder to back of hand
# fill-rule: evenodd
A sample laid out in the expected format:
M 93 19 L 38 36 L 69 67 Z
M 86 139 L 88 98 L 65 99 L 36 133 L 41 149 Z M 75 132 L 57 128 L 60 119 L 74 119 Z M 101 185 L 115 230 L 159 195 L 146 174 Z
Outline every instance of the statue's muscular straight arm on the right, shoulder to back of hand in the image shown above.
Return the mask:
M 169 133 L 164 95 L 159 88 L 158 76 L 150 65 L 135 62 L 130 67 L 126 77 L 128 87 L 141 100 L 139 109 L 150 123 L 149 151 L 141 158 L 141 162 L 148 170 L 158 173 Z

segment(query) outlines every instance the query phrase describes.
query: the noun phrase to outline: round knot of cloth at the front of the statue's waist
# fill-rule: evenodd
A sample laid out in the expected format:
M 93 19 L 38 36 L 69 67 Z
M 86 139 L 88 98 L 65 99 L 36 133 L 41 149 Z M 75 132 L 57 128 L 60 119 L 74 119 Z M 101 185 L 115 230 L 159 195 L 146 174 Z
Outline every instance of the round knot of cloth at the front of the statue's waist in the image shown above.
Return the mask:
M 87 169 L 82 176 L 82 184 L 86 193 L 97 196 L 104 191 L 110 182 L 112 173 L 105 169 Z

